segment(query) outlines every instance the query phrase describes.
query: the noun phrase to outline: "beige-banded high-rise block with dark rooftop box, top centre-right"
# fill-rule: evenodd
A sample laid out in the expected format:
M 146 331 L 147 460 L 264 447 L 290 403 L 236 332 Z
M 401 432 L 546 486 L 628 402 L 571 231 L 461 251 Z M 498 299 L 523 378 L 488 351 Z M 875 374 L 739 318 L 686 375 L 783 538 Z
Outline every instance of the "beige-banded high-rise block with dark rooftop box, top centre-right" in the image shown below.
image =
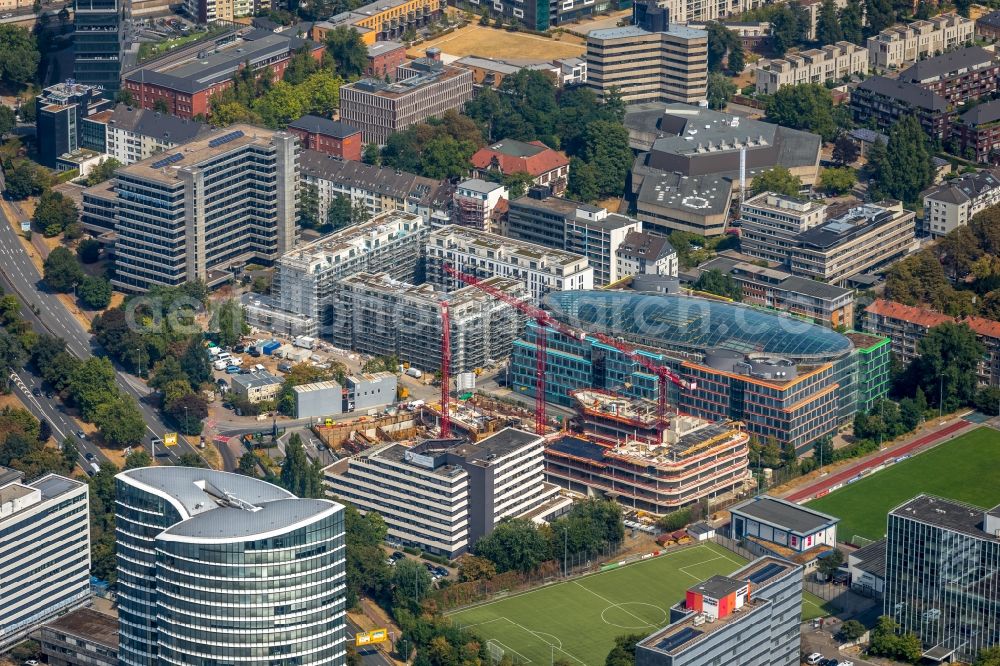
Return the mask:
M 705 99 L 708 33 L 670 23 L 669 10 L 636 3 L 633 25 L 587 34 L 587 85 L 600 98 L 612 90 L 626 104 Z

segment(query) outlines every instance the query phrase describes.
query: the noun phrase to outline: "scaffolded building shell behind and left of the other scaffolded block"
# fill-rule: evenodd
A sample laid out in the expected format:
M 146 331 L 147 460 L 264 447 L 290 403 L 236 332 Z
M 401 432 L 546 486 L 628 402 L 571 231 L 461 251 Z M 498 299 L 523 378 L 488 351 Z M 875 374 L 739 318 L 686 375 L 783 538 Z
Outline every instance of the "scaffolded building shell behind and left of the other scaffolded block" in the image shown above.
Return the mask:
M 286 252 L 277 262 L 273 302 L 247 308 L 251 325 L 278 311 L 305 316 L 328 330 L 342 278 L 384 272 L 415 282 L 429 230 L 418 215 L 388 212 Z

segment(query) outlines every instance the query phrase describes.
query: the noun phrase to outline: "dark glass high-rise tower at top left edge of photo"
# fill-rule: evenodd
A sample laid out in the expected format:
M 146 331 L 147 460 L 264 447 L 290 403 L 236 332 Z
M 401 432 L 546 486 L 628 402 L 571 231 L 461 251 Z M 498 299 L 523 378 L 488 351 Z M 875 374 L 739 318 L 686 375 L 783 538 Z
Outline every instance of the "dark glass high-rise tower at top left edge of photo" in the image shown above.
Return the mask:
M 76 0 L 73 8 L 73 78 L 101 86 L 108 99 L 121 87 L 129 5 L 127 0 Z

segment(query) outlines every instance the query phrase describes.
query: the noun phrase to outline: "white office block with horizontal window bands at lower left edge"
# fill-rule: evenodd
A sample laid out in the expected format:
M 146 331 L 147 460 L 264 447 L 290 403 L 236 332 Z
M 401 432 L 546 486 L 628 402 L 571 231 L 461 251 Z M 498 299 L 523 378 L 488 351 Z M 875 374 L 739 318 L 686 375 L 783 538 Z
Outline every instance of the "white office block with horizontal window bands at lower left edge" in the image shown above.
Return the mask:
M 88 486 L 0 467 L 0 648 L 90 600 Z

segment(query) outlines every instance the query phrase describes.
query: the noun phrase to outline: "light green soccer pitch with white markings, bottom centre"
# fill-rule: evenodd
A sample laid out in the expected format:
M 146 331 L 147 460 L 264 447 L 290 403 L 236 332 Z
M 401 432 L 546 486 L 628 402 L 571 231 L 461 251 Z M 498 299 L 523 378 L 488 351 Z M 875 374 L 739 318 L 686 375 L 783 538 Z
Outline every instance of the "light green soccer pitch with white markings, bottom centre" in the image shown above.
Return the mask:
M 451 620 L 504 650 L 516 664 L 543 666 L 564 659 L 601 666 L 616 637 L 649 634 L 669 624 L 670 606 L 692 584 L 744 564 L 721 546 L 699 544 L 458 611 Z

